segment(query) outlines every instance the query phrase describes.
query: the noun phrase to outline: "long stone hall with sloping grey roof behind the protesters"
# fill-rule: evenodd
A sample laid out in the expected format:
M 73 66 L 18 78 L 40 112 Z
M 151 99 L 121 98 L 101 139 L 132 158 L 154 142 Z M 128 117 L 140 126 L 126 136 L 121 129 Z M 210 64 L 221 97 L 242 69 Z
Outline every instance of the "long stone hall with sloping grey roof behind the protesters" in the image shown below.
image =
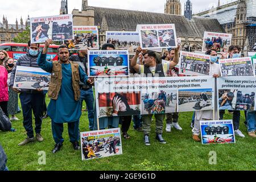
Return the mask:
M 197 17 L 189 20 L 181 15 L 92 7 L 87 0 L 82 0 L 82 11 L 75 9 L 72 14 L 75 26 L 100 25 L 101 44 L 106 41 L 105 31 L 136 31 L 137 24 L 174 23 L 177 37 L 189 51 L 201 50 L 204 31 L 225 32 L 217 19 Z

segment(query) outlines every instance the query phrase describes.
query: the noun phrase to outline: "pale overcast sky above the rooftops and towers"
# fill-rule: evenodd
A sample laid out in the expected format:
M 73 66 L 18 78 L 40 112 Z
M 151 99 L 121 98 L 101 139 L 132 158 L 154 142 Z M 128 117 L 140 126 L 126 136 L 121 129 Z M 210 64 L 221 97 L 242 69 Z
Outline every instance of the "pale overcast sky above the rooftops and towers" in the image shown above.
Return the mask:
M 2 0 L 3 1 L 3 0 Z M 182 11 L 184 10 L 184 3 L 187 0 L 180 0 L 182 4 Z M 221 0 L 221 4 L 236 0 Z M 16 18 L 20 22 L 20 16 L 23 21 L 29 14 L 30 17 L 40 17 L 48 15 L 59 15 L 61 0 L 7 0 L 0 6 L 0 22 L 2 17 L 7 16 L 9 24 L 15 24 Z M 139 11 L 150 11 L 155 13 L 164 12 L 164 3 L 166 0 L 88 0 L 89 6 L 110 7 L 116 9 L 128 9 Z M 218 0 L 191 0 L 193 3 L 193 13 L 209 9 L 209 7 L 216 7 Z M 68 11 L 72 13 L 73 9 L 81 10 L 82 0 L 68 0 Z

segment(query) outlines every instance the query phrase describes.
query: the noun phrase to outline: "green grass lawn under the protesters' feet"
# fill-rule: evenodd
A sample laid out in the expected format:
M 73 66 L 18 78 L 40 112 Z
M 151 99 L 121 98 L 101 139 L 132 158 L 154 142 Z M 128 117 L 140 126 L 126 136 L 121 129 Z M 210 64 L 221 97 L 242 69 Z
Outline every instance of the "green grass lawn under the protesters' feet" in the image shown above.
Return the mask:
M 51 120 L 43 120 L 42 143 L 29 143 L 19 147 L 18 143 L 26 138 L 22 120 L 13 122 L 16 132 L 0 132 L 0 142 L 8 157 L 7 166 L 10 170 L 254 170 L 256 168 L 256 139 L 249 138 L 243 111 L 241 112 L 240 129 L 246 138 L 236 137 L 236 144 L 205 145 L 194 142 L 191 132 L 192 113 L 181 113 L 179 123 L 182 131 L 172 129 L 171 133 L 164 130 L 163 137 L 167 144 L 159 144 L 155 140 L 155 124 L 152 123 L 150 134 L 151 146 L 144 146 L 143 133 L 130 127 L 131 138 L 122 138 L 123 155 L 109 158 L 81 160 L 81 151 L 74 151 L 69 142 L 67 124 L 64 129 L 64 145 L 60 152 L 52 154 L 54 141 L 51 133 Z M 88 131 L 87 113 L 83 112 L 80 119 L 80 131 Z M 22 114 L 17 115 L 22 119 Z M 231 119 L 226 114 L 224 119 Z M 164 127 L 165 127 L 164 123 Z M 46 152 L 46 165 L 39 165 L 39 151 Z M 217 153 L 217 164 L 209 164 L 209 152 Z

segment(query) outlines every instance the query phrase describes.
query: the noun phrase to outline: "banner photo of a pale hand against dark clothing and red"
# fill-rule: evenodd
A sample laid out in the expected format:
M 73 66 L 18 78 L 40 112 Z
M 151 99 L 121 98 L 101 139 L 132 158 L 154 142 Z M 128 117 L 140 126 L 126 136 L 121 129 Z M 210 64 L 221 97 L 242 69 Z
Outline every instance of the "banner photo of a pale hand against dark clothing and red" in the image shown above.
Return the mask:
M 141 93 L 98 93 L 98 117 L 141 114 Z

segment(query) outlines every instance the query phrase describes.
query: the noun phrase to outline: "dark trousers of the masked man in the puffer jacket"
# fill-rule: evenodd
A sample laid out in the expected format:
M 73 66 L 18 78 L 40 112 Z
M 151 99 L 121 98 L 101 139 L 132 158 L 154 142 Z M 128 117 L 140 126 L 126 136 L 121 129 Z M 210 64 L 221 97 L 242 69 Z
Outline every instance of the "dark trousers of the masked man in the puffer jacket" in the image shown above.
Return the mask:
M 32 126 L 32 111 L 35 116 L 35 132 L 41 132 L 42 125 L 42 111 L 44 106 L 44 94 L 42 93 L 20 93 L 20 103 L 22 105 L 23 126 L 27 131 L 27 137 L 34 137 L 34 130 Z

